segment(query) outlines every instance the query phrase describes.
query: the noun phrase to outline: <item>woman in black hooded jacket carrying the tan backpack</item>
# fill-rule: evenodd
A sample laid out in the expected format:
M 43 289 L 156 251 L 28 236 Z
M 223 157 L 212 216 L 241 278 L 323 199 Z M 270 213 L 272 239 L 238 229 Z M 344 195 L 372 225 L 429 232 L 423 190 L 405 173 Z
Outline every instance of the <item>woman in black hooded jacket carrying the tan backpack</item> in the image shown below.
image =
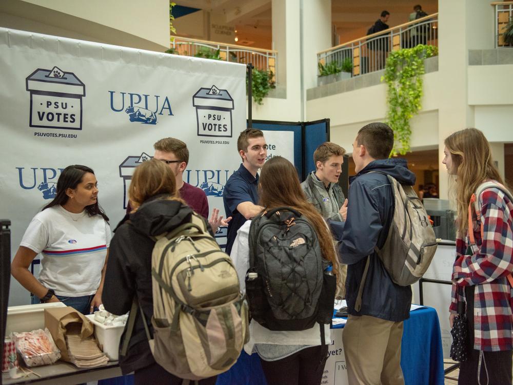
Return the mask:
M 171 168 L 156 159 L 135 168 L 128 195 L 136 211 L 126 216 L 114 230 L 102 299 L 107 311 L 125 314 L 130 310 L 134 296 L 137 296 L 153 335 L 149 320 L 153 316 L 151 254 L 155 242 L 151 237 L 190 222 L 192 209 L 177 198 Z M 138 312 L 127 353 L 120 355 L 123 374 L 134 372 L 135 384 L 182 384 L 181 378 L 155 362 L 143 322 Z M 210 377 L 199 383 L 213 385 L 215 381 L 216 377 Z

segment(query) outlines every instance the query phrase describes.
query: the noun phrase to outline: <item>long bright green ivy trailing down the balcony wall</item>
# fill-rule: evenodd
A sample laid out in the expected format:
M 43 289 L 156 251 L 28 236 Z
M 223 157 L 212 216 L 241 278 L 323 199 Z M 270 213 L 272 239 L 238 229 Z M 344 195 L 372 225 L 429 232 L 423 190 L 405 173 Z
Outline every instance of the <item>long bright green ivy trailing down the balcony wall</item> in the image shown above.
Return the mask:
M 419 44 L 390 52 L 381 81 L 388 86 L 386 123 L 392 128 L 392 154 L 410 149 L 410 119 L 422 108 L 424 59 L 438 55 L 438 47 Z

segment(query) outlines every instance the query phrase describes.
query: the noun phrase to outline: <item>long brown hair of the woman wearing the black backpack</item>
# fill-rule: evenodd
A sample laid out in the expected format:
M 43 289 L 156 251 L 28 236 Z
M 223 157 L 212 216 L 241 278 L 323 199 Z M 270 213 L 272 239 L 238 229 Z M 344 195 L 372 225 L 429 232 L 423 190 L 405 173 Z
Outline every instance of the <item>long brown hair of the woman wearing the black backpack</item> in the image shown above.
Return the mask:
M 282 157 L 272 157 L 265 162 L 260 172 L 260 205 L 266 210 L 288 206 L 298 210 L 313 225 L 323 257 L 333 264 L 333 273 L 339 271 L 339 260 L 333 246 L 333 238 L 321 214 L 306 200 L 294 165 Z M 342 278 L 337 274 L 337 283 Z

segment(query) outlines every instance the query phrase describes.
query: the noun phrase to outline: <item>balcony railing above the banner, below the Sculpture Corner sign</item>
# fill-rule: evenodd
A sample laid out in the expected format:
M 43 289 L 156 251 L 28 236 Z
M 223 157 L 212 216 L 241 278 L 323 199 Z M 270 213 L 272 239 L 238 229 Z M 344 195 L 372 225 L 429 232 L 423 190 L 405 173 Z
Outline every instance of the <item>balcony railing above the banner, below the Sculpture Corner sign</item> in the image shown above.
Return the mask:
M 187 37 L 174 37 L 174 40 L 171 42 L 171 48 L 175 49 L 177 53 L 187 56 L 203 55 L 205 53 L 215 54 L 219 50 L 221 60 L 233 63 L 251 63 L 254 68 L 259 70 L 272 71 L 276 77 L 277 51 L 209 42 Z

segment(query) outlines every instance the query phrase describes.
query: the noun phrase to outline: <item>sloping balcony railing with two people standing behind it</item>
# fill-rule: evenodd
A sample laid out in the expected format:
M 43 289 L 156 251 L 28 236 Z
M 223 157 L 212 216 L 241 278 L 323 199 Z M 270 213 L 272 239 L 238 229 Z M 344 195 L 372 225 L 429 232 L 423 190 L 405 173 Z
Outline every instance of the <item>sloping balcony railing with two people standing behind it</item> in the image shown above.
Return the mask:
M 418 44 L 438 46 L 438 13 L 318 52 L 317 61 L 323 65 L 331 62 L 340 65 L 349 58 L 352 75 L 358 76 L 385 68 L 391 51 Z

